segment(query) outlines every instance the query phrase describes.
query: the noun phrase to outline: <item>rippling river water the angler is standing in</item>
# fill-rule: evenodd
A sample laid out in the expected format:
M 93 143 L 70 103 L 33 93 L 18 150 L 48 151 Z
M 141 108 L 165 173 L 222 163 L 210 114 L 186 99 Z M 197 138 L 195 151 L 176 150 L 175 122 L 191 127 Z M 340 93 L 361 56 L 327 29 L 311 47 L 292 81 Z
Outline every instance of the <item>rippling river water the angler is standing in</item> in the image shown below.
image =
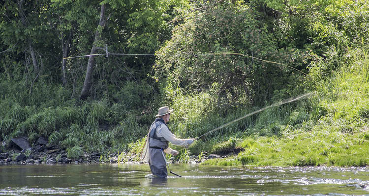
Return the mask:
M 369 195 L 368 167 L 170 167 L 183 177 L 146 178 L 146 164 L 0 166 L 0 195 Z

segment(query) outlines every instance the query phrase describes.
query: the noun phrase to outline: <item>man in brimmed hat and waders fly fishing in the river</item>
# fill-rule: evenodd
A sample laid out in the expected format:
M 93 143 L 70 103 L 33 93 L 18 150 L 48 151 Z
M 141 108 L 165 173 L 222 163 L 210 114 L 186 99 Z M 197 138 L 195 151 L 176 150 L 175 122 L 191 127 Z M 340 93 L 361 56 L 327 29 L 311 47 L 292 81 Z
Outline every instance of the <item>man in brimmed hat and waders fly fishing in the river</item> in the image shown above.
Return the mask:
M 166 178 L 168 176 L 166 160 L 163 152 L 176 156 L 178 151 L 168 147 L 168 142 L 188 147 L 193 143 L 193 139 L 178 139 L 169 130 L 166 123 L 170 119 L 170 113 L 174 110 L 168 106 L 159 108 L 158 114 L 155 116 L 154 123 L 150 126 L 148 134 L 149 143 L 149 166 L 154 177 Z M 162 152 L 163 151 L 163 152 Z

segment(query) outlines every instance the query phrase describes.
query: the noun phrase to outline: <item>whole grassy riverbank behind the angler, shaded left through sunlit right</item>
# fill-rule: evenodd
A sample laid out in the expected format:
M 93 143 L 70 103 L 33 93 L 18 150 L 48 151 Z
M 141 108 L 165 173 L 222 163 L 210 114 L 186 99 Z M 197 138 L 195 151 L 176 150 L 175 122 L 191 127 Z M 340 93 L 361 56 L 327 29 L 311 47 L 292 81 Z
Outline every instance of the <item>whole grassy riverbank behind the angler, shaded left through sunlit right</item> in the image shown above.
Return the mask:
M 175 157 L 188 162 L 209 154 L 227 155 L 209 159 L 210 165 L 260 166 L 366 166 L 369 165 L 369 55 L 366 49 L 351 49 L 341 59 L 344 64 L 321 77 L 331 66 L 322 61 L 311 67 L 306 91 L 308 99 L 273 107 L 233 123 L 195 141 Z M 38 137 L 65 149 L 68 158 L 84 152 L 101 152 L 100 161 L 117 156 L 119 161 L 138 161 L 147 128 L 158 105 L 175 109 L 171 130 L 181 138 L 200 136 L 224 123 L 260 109 L 219 110 L 209 92 L 183 95 L 180 89 L 165 89 L 160 101 L 150 99 L 147 84 L 127 83 L 110 97 L 79 101 L 68 99 L 61 87 L 39 86 L 28 93 L 21 85 L 2 82 L 1 140 L 27 136 L 32 144 Z M 7 90 L 7 91 L 5 91 Z M 17 93 L 19 92 L 19 93 Z M 53 94 L 46 95 L 46 93 Z M 6 96 L 4 96 L 6 95 Z M 277 95 L 278 96 L 278 95 Z M 145 102 L 142 107 L 137 100 Z M 285 96 L 284 96 L 285 97 Z M 278 100 L 278 98 L 275 98 Z M 119 100 L 119 101 L 118 101 Z M 33 104 L 31 104 L 33 103 Z M 270 105 L 273 102 L 266 102 Z M 148 109 L 149 108 L 149 109 Z M 151 109 L 150 109 L 151 108 Z

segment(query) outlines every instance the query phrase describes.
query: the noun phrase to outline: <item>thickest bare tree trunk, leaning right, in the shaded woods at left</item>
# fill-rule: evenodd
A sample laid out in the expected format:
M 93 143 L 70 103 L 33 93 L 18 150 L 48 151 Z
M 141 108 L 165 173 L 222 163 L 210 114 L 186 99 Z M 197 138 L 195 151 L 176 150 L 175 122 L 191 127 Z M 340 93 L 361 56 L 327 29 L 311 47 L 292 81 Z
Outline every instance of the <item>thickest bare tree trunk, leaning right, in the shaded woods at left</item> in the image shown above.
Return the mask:
M 101 11 L 100 11 L 100 22 L 95 32 L 95 38 L 92 44 L 90 55 L 96 53 L 96 50 L 98 49 L 96 47 L 96 43 L 98 43 L 98 41 L 101 40 L 101 34 L 100 34 L 99 29 L 102 30 L 103 27 L 105 26 L 106 21 L 109 19 L 109 17 L 108 18 L 105 17 L 105 8 L 106 8 L 105 4 L 102 4 Z M 99 26 L 101 26 L 102 28 L 99 28 Z M 89 57 L 89 62 L 87 64 L 85 82 L 83 83 L 82 92 L 80 96 L 81 99 L 85 99 L 90 92 L 94 64 L 95 64 L 95 56 L 92 55 Z

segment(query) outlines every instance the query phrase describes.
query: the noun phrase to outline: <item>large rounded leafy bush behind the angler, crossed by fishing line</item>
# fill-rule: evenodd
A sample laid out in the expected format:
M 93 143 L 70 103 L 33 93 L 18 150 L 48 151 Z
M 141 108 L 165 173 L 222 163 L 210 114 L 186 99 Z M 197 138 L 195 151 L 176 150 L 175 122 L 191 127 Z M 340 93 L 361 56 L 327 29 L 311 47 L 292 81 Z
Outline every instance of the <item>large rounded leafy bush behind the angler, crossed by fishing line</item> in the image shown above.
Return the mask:
M 291 70 L 240 55 L 207 55 L 236 52 L 296 66 L 293 51 L 278 49 L 266 26 L 247 7 L 206 4 L 173 30 L 156 52 L 154 78 L 185 92 L 206 92 L 221 108 L 260 103 L 261 95 L 282 88 Z M 295 51 L 298 53 L 298 51 Z M 297 56 L 297 58 L 299 58 Z M 165 80 L 167 78 L 167 80 Z M 165 83 L 166 82 L 166 83 Z

